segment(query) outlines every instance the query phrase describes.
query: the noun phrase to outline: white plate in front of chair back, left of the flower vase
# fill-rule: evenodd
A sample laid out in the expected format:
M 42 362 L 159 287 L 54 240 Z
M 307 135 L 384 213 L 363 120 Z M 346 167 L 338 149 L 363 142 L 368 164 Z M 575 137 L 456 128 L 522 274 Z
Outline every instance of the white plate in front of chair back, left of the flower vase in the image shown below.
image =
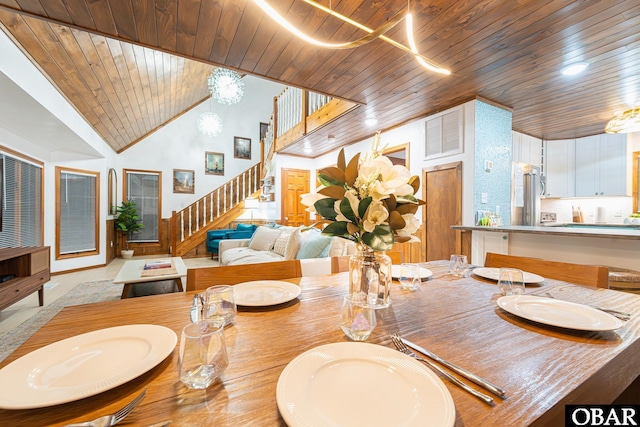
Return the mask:
M 300 286 L 279 280 L 255 280 L 233 287 L 237 305 L 263 307 L 289 302 L 300 295 Z

